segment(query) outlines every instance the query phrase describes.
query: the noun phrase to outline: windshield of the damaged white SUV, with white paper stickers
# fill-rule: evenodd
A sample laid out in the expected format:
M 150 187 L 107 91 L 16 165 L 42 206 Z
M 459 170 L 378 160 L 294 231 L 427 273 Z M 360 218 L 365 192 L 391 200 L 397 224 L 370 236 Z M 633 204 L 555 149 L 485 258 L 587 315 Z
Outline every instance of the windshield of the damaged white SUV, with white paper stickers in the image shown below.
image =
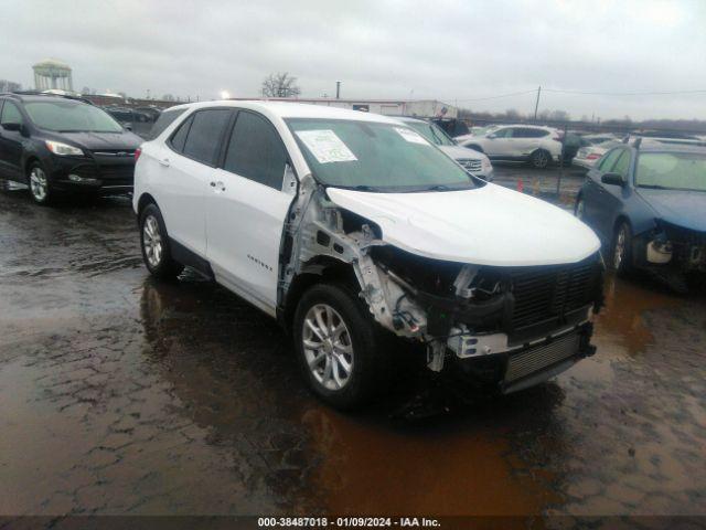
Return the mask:
M 287 124 L 324 184 L 394 192 L 477 187 L 460 166 L 404 125 L 301 118 Z

